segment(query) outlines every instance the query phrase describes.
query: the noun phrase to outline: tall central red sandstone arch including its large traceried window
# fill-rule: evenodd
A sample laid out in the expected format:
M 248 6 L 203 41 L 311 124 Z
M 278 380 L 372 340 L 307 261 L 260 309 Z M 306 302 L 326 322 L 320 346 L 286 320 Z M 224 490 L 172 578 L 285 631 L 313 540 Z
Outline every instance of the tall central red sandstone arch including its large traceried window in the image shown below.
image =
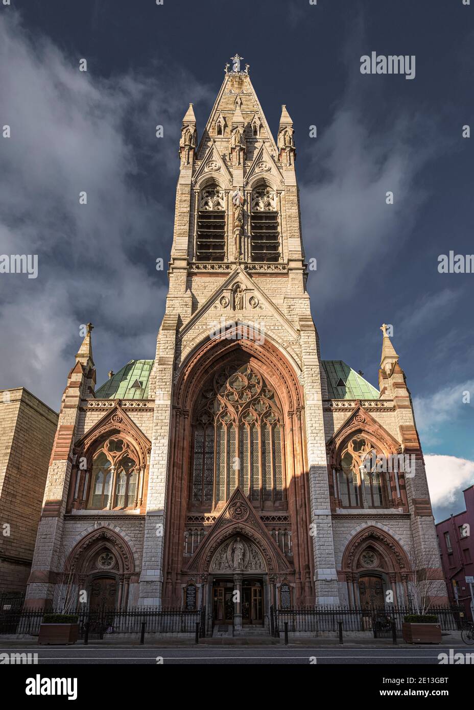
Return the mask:
M 200 550 L 207 549 L 206 541 L 237 488 L 262 521 L 263 546 L 275 542 L 285 557 L 278 569 L 295 570 L 290 572 L 294 601 L 312 603 L 314 555 L 307 535 L 301 386 L 294 366 L 270 337 L 263 351 L 240 325 L 233 328 L 235 338 L 226 331 L 226 339 L 203 342 L 188 354 L 174 389 L 164 603 L 181 603 L 187 572 L 199 567 L 199 574 L 206 575 L 203 603 L 212 608 L 210 559 L 201 561 Z M 254 599 L 258 594 L 253 592 Z M 265 615 L 270 606 L 265 582 L 262 599 Z

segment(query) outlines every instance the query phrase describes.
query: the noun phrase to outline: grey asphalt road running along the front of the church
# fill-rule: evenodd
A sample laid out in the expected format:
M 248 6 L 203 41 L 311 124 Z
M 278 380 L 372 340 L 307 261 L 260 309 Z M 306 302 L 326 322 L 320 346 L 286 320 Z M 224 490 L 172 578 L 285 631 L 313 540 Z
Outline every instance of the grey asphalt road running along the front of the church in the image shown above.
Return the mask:
M 38 665 L 54 664 L 131 664 L 131 665 L 157 665 L 162 658 L 163 665 L 309 665 L 316 662 L 320 664 L 410 664 L 410 665 L 439 665 L 439 654 L 445 652 L 473 653 L 474 647 L 460 646 L 432 646 L 414 647 L 400 646 L 399 648 L 321 648 L 321 646 L 260 646 L 260 647 L 226 647 L 212 648 L 209 646 L 194 647 L 161 647 L 160 646 L 97 646 L 89 645 L 69 648 L 38 649 L 37 645 L 13 648 L 0 648 L 2 653 L 38 653 Z M 315 660 L 314 660 L 315 659 Z M 474 656 L 473 656 L 474 660 Z

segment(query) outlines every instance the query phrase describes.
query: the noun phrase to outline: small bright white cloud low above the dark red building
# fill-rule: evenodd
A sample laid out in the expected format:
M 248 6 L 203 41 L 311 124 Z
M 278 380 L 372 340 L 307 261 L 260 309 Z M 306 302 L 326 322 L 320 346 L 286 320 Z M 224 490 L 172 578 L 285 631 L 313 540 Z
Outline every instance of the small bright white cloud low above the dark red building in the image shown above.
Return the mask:
M 456 456 L 425 454 L 426 477 L 433 506 L 445 508 L 454 503 L 463 488 L 474 483 L 474 461 Z M 460 510 L 453 510 L 459 513 Z

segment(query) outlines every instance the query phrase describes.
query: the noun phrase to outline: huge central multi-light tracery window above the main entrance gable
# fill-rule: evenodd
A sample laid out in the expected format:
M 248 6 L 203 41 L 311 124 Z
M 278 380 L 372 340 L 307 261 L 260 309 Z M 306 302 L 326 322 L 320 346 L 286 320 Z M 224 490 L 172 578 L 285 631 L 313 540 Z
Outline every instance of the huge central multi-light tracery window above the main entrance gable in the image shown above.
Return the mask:
M 192 506 L 215 508 L 236 486 L 255 503 L 285 499 L 283 430 L 272 388 L 248 364 L 204 388 L 193 422 Z

